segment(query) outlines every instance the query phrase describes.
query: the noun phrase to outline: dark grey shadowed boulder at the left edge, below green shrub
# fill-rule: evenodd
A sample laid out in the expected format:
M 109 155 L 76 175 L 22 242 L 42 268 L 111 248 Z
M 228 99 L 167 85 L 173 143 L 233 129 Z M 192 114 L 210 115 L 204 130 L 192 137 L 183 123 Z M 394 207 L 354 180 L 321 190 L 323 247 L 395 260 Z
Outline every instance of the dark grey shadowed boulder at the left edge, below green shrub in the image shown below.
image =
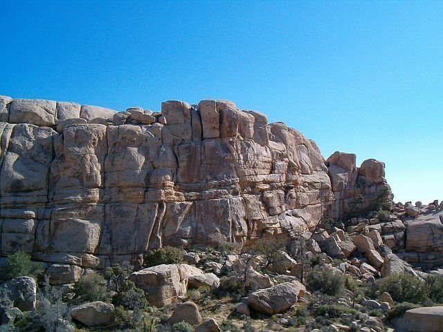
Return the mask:
M 0 315 L 8 305 L 21 311 L 33 311 L 37 302 L 37 284 L 31 277 L 17 277 L 0 285 Z

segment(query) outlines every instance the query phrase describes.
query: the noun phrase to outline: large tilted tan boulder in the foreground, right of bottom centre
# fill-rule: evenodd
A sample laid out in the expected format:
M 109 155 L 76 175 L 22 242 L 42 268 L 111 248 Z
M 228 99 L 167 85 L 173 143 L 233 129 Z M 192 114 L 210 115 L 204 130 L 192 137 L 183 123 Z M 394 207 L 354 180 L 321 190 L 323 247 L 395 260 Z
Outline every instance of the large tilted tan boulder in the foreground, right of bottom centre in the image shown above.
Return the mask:
M 248 305 L 266 315 L 282 313 L 297 303 L 306 288 L 300 282 L 284 282 L 271 288 L 262 289 L 248 296 Z

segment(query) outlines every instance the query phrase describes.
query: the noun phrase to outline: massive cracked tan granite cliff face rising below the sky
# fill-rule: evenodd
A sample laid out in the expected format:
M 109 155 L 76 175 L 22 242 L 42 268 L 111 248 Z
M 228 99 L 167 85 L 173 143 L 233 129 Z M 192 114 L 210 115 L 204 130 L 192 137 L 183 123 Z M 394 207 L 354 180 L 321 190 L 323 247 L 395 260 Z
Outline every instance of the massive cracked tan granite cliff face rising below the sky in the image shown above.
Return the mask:
M 100 268 L 165 245 L 290 239 L 390 193 L 383 163 L 325 163 L 228 101 L 117 113 L 1 96 L 0 120 L 1 255 Z

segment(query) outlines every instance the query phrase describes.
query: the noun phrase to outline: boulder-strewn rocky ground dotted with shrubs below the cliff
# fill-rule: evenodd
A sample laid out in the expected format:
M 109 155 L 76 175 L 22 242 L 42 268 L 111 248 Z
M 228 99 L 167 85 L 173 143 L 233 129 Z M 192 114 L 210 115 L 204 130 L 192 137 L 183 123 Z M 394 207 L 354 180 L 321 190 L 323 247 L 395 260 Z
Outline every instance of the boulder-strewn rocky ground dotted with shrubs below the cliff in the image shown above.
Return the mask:
M 100 271 L 53 286 L 58 299 L 42 297 L 44 286 L 37 291 L 34 279 L 16 277 L 0 285 L 2 326 L 39 331 L 39 306 L 47 302 L 51 311 L 58 301 L 66 315 L 53 324 L 63 322 L 61 330 L 46 331 L 442 331 L 442 207 L 397 203 L 364 218 L 325 221 L 287 247 L 278 241 L 242 252 L 228 244 L 167 247 L 132 262 L 139 264 L 134 272 L 122 266 L 102 272 L 102 286 L 118 278 L 122 286 L 100 288 L 111 292 L 101 301 L 84 302 L 78 291 Z M 177 263 L 158 265 L 162 259 Z M 63 272 L 58 278 L 62 284 Z M 128 281 L 129 295 L 122 291 Z

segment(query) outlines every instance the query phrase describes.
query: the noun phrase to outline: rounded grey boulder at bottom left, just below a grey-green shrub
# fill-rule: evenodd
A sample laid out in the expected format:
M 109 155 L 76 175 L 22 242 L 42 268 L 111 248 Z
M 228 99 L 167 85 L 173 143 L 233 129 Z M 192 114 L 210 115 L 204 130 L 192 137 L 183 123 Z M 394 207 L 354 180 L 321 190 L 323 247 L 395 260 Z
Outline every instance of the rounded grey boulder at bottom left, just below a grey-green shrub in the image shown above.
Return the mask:
M 75 306 L 69 313 L 73 320 L 86 326 L 106 326 L 115 320 L 114 306 L 101 301 Z

